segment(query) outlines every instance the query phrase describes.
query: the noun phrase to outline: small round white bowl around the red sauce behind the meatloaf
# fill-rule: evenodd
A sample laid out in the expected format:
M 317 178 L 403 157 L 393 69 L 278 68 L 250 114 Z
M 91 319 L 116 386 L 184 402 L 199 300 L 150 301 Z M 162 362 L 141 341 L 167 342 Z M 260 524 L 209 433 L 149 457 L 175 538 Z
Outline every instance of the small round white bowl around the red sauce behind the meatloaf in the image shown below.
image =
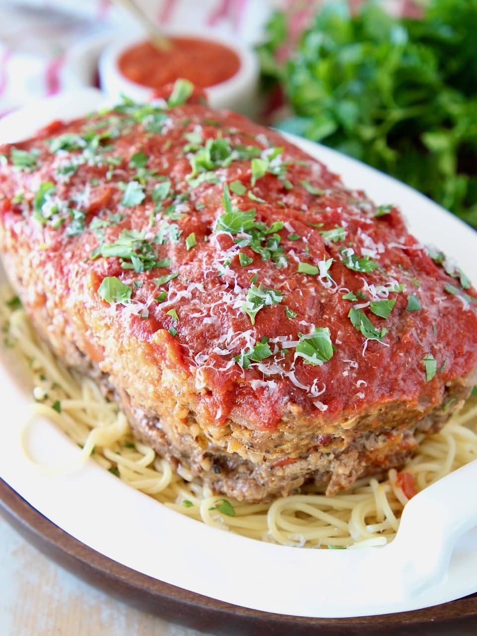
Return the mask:
M 217 42 L 234 51 L 240 60 L 240 67 L 236 74 L 220 84 L 205 88 L 208 101 L 214 108 L 227 108 L 250 117 L 259 110 L 259 63 L 257 56 L 250 48 L 232 43 L 229 39 L 216 32 L 200 31 L 168 31 L 168 36 L 185 38 L 200 38 Z M 121 94 L 136 101 L 149 99 L 153 88 L 143 86 L 126 78 L 119 71 L 118 61 L 121 55 L 131 46 L 147 39 L 147 35 L 130 36 L 121 41 L 115 41 L 106 46 L 99 59 L 99 77 L 102 90 L 113 100 L 118 100 Z

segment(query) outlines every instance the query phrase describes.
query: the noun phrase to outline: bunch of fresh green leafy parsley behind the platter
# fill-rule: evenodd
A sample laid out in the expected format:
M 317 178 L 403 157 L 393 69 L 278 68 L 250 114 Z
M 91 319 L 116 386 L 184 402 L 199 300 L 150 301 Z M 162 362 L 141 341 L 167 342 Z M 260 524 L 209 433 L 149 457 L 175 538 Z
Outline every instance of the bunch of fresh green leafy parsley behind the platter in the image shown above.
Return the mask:
M 295 116 L 279 127 L 405 181 L 477 227 L 477 0 L 431 0 L 422 19 L 366 2 L 318 11 L 297 50 L 274 13 L 259 46 L 265 86 Z

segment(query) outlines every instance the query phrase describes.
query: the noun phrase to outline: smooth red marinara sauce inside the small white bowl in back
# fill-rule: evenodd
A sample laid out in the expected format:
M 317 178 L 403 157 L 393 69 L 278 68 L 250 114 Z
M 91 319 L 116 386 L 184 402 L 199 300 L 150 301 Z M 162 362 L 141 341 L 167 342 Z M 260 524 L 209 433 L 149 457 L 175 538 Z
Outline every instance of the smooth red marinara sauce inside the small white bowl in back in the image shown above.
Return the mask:
M 159 88 L 178 78 L 206 88 L 234 76 L 240 59 L 231 48 L 201 38 L 170 38 L 171 48 L 159 50 L 150 42 L 128 48 L 118 60 L 119 71 L 143 86 Z

